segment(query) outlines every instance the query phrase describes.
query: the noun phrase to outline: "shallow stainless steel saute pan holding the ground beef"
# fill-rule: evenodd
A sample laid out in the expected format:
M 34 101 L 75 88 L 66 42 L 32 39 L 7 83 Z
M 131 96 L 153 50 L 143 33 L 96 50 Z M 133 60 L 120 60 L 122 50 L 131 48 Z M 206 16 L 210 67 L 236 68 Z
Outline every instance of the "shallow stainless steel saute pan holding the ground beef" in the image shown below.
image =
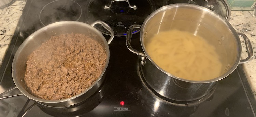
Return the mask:
M 93 27 L 95 24 L 101 24 L 111 33 L 111 37 L 108 40 L 108 42 L 106 41 L 105 37 L 96 28 Z M 26 90 L 26 86 L 24 82 L 24 75 L 26 71 L 26 61 L 28 56 L 35 49 L 39 48 L 43 42 L 50 39 L 51 36 L 57 36 L 57 35 L 66 34 L 66 33 L 79 33 L 79 34 L 88 35 L 92 39 L 95 39 L 96 41 L 98 41 L 102 45 L 102 47 L 105 48 L 106 55 L 107 55 L 106 65 L 100 77 L 85 91 L 67 99 L 44 100 L 31 95 Z M 61 21 L 61 22 L 49 24 L 35 31 L 22 43 L 22 45 L 20 45 L 13 59 L 13 63 L 12 63 L 13 81 L 16 87 L 22 93 L 18 95 L 24 94 L 28 98 L 34 101 L 37 101 L 38 103 L 41 103 L 46 106 L 51 106 L 51 107 L 68 107 L 86 100 L 87 98 L 89 98 L 91 95 L 95 93 L 95 91 L 101 86 L 101 84 L 105 79 L 104 77 L 105 71 L 108 66 L 109 57 L 110 57 L 108 44 L 110 44 L 113 38 L 114 38 L 114 31 L 108 26 L 108 24 L 102 21 L 95 21 L 91 25 L 83 22 L 76 22 L 76 21 Z M 12 95 L 12 96 L 17 96 L 17 95 Z M 12 96 L 6 96 L 0 99 L 12 97 Z

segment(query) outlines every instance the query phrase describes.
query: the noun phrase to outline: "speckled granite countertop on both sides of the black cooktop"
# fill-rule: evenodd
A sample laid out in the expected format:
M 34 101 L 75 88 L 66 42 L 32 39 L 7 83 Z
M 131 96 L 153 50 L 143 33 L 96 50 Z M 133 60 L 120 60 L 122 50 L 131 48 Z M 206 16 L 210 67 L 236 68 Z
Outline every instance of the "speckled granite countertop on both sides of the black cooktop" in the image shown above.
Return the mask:
M 0 66 L 25 4 L 26 0 L 17 0 L 11 6 L 0 9 Z M 256 17 L 253 17 L 252 13 L 253 11 L 231 11 L 231 19 L 229 22 L 237 32 L 244 33 L 251 40 L 254 50 L 254 59 L 249 63 L 243 64 L 243 68 L 256 99 Z M 245 43 L 242 39 L 241 42 L 242 58 L 246 58 L 247 52 Z

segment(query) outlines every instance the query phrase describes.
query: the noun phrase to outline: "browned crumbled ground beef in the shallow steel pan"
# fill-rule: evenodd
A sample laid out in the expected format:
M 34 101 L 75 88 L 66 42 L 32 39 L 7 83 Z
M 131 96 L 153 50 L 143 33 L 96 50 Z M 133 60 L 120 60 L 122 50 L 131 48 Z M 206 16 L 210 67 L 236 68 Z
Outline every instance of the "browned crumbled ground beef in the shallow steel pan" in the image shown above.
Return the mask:
M 106 64 L 106 51 L 82 34 L 52 36 L 28 56 L 27 90 L 46 100 L 80 94 L 98 79 Z

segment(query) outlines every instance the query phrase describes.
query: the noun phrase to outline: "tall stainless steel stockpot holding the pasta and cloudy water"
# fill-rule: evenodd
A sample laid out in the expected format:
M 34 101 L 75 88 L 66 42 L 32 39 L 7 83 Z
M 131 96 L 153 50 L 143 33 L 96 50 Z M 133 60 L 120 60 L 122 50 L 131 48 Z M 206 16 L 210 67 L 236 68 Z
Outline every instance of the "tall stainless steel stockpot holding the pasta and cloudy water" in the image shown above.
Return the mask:
M 131 47 L 131 34 L 134 28 L 141 29 L 140 41 L 143 52 Z M 215 47 L 222 45 L 222 52 L 227 56 L 223 74 L 211 80 L 193 81 L 176 77 L 160 68 L 148 55 L 145 41 L 159 31 L 172 29 L 196 33 Z M 244 60 L 241 60 L 239 36 L 245 40 L 248 52 L 248 57 Z M 217 81 L 232 73 L 238 64 L 249 62 L 253 57 L 253 48 L 246 35 L 237 33 L 225 18 L 215 12 L 193 4 L 171 4 L 157 9 L 146 18 L 142 26 L 133 25 L 129 28 L 126 45 L 131 52 L 141 56 L 141 71 L 146 83 L 158 94 L 176 101 L 202 98 L 216 86 Z

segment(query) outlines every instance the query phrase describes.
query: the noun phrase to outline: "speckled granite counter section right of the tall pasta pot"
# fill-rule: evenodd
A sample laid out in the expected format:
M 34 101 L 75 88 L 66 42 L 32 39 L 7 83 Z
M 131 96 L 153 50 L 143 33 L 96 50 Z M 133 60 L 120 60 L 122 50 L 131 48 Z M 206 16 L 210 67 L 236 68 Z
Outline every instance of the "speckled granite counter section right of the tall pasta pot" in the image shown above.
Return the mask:
M 252 15 L 253 11 L 231 11 L 230 24 L 237 32 L 244 33 L 251 40 L 254 57 L 249 63 L 243 64 L 244 72 L 251 85 L 254 98 L 256 99 L 256 17 Z M 241 39 L 241 38 L 240 38 Z M 244 40 L 242 42 L 242 59 L 247 57 Z

